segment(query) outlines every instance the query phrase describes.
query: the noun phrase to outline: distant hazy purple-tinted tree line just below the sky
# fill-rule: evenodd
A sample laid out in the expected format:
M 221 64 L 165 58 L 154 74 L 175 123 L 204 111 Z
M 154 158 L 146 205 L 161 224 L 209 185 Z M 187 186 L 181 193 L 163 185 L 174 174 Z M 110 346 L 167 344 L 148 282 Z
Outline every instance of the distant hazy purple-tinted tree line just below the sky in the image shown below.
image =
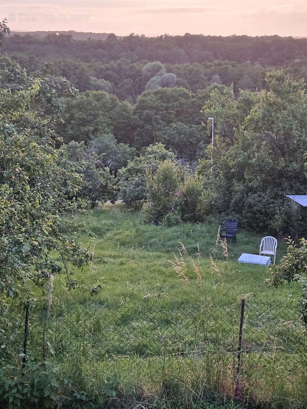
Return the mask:
M 71 58 L 90 61 L 97 59 L 111 62 L 120 58 L 130 61 L 160 60 L 163 63 L 212 62 L 230 60 L 236 62 L 258 61 L 261 65 L 281 65 L 307 56 L 307 39 L 293 37 L 247 35 L 205 36 L 186 33 L 183 36 L 168 34 L 145 37 L 131 33 L 117 37 L 108 34 L 105 40 L 73 39 L 71 34 L 48 33 L 45 38 L 34 35 L 14 34 L 5 41 L 5 51 L 15 53 L 27 46 L 29 54 L 68 55 Z

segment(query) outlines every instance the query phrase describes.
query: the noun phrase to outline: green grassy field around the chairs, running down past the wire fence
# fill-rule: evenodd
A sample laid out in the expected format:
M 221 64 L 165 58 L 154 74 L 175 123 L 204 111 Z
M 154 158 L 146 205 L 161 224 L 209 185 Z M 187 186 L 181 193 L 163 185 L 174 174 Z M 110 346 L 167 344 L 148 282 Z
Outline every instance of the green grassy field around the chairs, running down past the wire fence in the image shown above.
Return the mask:
M 307 406 L 299 287 L 268 287 L 266 267 L 237 262 L 243 252 L 258 253 L 261 236 L 239 230 L 227 255 L 216 244 L 218 224 L 147 225 L 117 206 L 71 217 L 93 254 L 74 278 L 102 289 L 93 297 L 70 291 L 57 276 L 46 338 L 50 359 L 79 390 L 98 396 L 116 374 L 116 407 Z M 277 261 L 286 249 L 278 243 Z M 33 324 L 32 346 L 40 337 Z

